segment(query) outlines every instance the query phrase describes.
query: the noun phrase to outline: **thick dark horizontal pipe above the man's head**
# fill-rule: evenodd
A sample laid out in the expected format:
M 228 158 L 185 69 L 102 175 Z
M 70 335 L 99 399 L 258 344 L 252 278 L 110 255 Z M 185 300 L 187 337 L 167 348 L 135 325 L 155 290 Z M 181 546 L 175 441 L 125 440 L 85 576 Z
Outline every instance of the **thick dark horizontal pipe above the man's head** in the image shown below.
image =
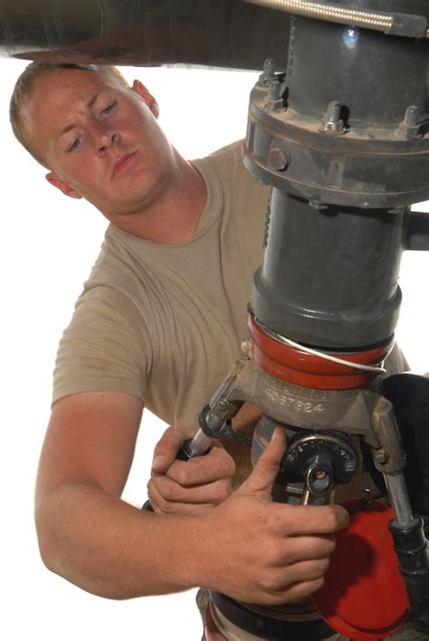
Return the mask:
M 242 0 L 0 0 L 0 55 L 47 62 L 284 68 L 289 31 Z

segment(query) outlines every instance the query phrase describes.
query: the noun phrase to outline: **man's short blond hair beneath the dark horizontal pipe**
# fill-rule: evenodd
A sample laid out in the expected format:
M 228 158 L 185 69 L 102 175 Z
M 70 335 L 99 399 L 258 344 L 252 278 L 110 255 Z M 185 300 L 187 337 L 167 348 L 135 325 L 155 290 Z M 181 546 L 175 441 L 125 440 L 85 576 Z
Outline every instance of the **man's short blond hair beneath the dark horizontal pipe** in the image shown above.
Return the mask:
M 123 84 L 124 87 L 129 88 L 129 83 L 125 79 L 122 73 L 119 72 L 117 67 L 112 66 L 111 64 L 74 64 L 74 63 L 38 63 L 33 62 L 28 64 L 24 72 L 21 73 L 18 80 L 14 85 L 14 92 L 11 96 L 11 102 L 9 105 L 9 118 L 12 126 L 12 131 L 14 131 L 14 137 L 17 141 L 21 142 L 23 147 L 33 156 L 37 162 L 39 162 L 46 169 L 50 169 L 46 161 L 43 160 L 42 156 L 34 149 L 33 143 L 30 140 L 28 131 L 25 131 L 24 121 L 22 118 L 22 107 L 24 101 L 29 97 L 35 80 L 41 75 L 41 73 L 50 72 L 56 69 L 78 69 L 83 71 L 90 72 L 101 72 L 107 73 L 114 76 L 119 80 L 119 83 Z

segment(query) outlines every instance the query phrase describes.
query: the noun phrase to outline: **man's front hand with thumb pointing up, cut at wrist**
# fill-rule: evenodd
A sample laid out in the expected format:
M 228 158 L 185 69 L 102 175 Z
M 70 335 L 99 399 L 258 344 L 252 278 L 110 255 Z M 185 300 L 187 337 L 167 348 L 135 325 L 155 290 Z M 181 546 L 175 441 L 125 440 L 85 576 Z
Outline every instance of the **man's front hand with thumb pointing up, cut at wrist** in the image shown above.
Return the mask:
M 272 500 L 285 441 L 277 428 L 247 481 L 205 516 L 211 543 L 201 585 L 244 603 L 281 605 L 309 597 L 323 584 L 334 533 L 348 525 L 340 506 Z

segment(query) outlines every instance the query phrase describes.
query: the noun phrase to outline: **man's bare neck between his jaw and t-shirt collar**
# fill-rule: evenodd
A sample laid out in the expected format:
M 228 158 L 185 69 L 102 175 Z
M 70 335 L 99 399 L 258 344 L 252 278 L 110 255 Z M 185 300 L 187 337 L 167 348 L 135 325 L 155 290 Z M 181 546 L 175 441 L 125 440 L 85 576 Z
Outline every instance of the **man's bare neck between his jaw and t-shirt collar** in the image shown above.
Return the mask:
M 205 180 L 189 162 L 181 159 L 177 180 L 141 213 L 113 216 L 115 227 L 153 242 L 177 245 L 194 238 L 205 209 Z

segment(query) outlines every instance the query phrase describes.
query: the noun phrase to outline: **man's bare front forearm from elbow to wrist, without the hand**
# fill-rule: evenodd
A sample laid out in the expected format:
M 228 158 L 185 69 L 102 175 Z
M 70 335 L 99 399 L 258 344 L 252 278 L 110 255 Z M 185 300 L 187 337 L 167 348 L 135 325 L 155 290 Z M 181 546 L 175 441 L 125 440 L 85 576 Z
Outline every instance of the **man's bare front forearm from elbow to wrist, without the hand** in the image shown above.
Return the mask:
M 201 517 L 157 515 L 85 484 L 63 486 L 36 509 L 43 561 L 100 597 L 195 587 Z

